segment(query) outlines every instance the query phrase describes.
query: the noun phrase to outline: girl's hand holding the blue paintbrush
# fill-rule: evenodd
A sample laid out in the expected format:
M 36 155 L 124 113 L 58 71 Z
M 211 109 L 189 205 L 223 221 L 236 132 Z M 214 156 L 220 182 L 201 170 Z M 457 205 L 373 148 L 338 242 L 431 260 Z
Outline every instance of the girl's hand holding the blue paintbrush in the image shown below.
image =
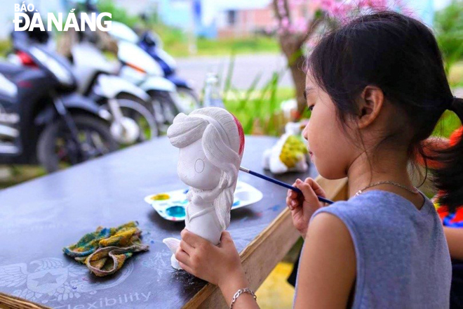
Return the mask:
M 293 216 L 294 227 L 305 239 L 311 216 L 317 209 L 324 206 L 323 202 L 318 201 L 317 195 L 321 197 L 326 197 L 326 195 L 325 191 L 312 178 L 306 178 L 304 182 L 297 179 L 293 183 L 293 187 L 300 189 L 302 195 L 293 190 L 288 190 L 286 205 L 291 211 L 291 216 Z

